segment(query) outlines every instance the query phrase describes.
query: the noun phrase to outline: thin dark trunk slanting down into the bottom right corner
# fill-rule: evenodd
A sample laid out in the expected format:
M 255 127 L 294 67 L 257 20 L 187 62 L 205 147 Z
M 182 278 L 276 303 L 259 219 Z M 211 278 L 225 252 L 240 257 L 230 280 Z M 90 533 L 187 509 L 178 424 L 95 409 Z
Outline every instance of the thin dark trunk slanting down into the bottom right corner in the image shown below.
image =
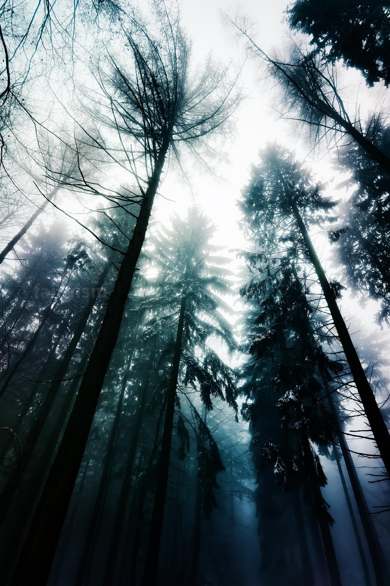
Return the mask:
M 330 408 L 334 413 L 335 405 L 331 395 L 329 395 L 329 403 Z M 348 478 L 350 479 L 361 524 L 364 530 L 365 539 L 367 541 L 368 550 L 370 551 L 371 561 L 374 567 L 375 580 L 377 582 L 377 586 L 385 586 L 390 584 L 390 574 L 383 554 L 382 546 L 379 542 L 374 523 L 372 523 L 371 515 L 368 511 L 367 502 L 365 500 L 360 481 L 357 476 L 354 462 L 336 415 L 334 416 L 334 423 L 341 453 L 343 454 L 345 467 L 347 468 Z

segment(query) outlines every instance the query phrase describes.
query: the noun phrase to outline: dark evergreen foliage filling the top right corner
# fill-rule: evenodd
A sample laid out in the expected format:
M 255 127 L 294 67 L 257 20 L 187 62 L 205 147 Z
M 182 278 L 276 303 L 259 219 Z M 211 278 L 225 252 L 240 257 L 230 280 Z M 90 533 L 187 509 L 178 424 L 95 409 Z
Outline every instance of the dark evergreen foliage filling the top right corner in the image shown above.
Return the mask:
M 386 2 L 297 0 L 286 13 L 291 28 L 311 35 L 310 45 L 331 61 L 357 67 L 367 84 L 390 83 L 390 11 Z

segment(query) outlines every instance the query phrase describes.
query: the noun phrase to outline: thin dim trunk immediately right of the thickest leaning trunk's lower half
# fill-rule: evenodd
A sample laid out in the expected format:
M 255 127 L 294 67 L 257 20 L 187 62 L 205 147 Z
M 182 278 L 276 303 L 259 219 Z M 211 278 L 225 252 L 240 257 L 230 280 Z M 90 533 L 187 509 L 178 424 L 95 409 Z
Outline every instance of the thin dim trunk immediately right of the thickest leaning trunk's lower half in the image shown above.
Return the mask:
M 131 358 L 129 360 L 129 363 L 130 362 L 131 362 Z M 76 580 L 74 582 L 75 586 L 81 586 L 83 584 L 85 572 L 87 571 L 88 560 L 90 558 L 92 546 L 94 543 L 94 536 L 95 536 L 95 533 L 97 532 L 100 510 L 102 507 L 104 495 L 106 493 L 105 489 L 106 489 L 106 485 L 107 485 L 108 477 L 109 477 L 109 472 L 110 472 L 110 468 L 111 468 L 112 456 L 114 454 L 114 444 L 115 444 L 115 440 L 117 438 L 117 433 L 118 433 L 118 429 L 119 429 L 119 422 L 121 421 L 122 403 L 123 403 L 123 398 L 124 398 L 124 394 L 125 394 L 125 390 L 126 390 L 126 384 L 128 383 L 129 377 L 130 377 L 130 370 L 128 369 L 125 372 L 124 377 L 122 379 L 121 391 L 119 393 L 119 400 L 118 400 L 117 410 L 115 412 L 114 424 L 112 425 L 112 429 L 111 429 L 110 441 L 108 442 L 107 453 L 104 458 L 104 465 L 103 465 L 103 471 L 102 471 L 102 475 L 101 475 L 101 479 L 100 479 L 99 489 L 98 489 L 98 493 L 96 496 L 90 524 L 88 526 L 88 532 L 87 532 L 87 535 L 85 536 L 83 553 L 81 553 L 80 562 L 78 563 Z

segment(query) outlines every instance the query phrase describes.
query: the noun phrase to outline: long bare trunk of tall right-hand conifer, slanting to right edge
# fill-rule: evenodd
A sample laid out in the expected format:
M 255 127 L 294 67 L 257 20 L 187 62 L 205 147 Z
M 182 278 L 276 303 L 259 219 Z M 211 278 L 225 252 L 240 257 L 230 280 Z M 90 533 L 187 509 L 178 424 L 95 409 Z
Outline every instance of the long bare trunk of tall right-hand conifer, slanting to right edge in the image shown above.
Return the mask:
M 374 440 L 377 444 L 379 454 L 381 455 L 388 476 L 390 477 L 389 431 L 386 427 L 384 418 L 382 417 L 378 403 L 375 401 L 374 393 L 372 392 L 370 383 L 368 382 L 367 376 L 365 375 L 364 369 L 360 363 L 358 354 L 351 340 L 348 328 L 345 325 L 343 316 L 341 315 L 340 309 L 338 309 L 336 296 L 334 295 L 333 289 L 331 289 L 329 285 L 329 281 L 326 278 L 326 274 L 321 266 L 319 258 L 317 257 L 317 253 L 314 250 L 309 233 L 306 230 L 305 223 L 303 223 L 302 217 L 300 216 L 299 210 L 297 209 L 295 203 L 291 201 L 290 205 L 300 233 L 302 234 L 303 240 L 305 241 L 307 253 L 309 254 L 309 258 L 312 261 L 314 270 L 316 271 L 318 280 L 323 290 L 324 298 L 333 319 L 338 339 L 340 339 L 341 346 L 343 346 L 345 358 L 347 359 L 347 362 L 350 366 L 351 374 L 361 398 L 362 406 L 364 408 L 365 415 L 367 416 L 368 423 L 370 424 L 372 434 L 374 435 Z

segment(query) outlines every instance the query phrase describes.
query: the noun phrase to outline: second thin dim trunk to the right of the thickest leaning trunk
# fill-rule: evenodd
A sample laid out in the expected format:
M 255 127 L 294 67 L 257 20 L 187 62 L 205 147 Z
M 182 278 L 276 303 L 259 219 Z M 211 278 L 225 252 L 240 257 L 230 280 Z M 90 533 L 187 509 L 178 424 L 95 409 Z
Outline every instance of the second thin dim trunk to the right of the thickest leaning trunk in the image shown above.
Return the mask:
M 153 361 L 153 359 L 154 359 L 154 353 L 153 353 L 153 357 L 151 357 L 151 361 Z M 123 519 L 125 516 L 126 504 L 127 504 L 127 500 L 128 500 L 128 496 L 129 496 L 130 486 L 131 486 L 134 461 L 135 461 L 136 450 L 137 450 L 137 446 L 138 446 L 139 432 L 141 431 L 143 411 L 145 411 L 146 398 L 148 396 L 150 368 L 151 368 L 151 364 L 149 362 L 149 373 L 148 373 L 148 376 L 147 376 L 145 382 L 143 383 L 142 389 L 141 389 L 141 401 L 139 403 L 135 428 L 134 428 L 134 432 L 133 432 L 131 442 L 129 445 L 128 455 L 126 458 L 126 466 L 125 466 L 124 478 L 123 478 L 122 487 L 121 487 L 121 493 L 119 494 L 117 512 L 115 514 L 114 525 L 112 527 L 110 548 L 108 549 L 107 562 L 105 565 L 104 578 L 103 578 L 103 583 L 105 586 L 111 586 L 112 580 L 114 578 L 115 562 L 117 561 L 119 541 L 121 539 L 121 534 L 122 534 L 122 524 L 123 524 Z

